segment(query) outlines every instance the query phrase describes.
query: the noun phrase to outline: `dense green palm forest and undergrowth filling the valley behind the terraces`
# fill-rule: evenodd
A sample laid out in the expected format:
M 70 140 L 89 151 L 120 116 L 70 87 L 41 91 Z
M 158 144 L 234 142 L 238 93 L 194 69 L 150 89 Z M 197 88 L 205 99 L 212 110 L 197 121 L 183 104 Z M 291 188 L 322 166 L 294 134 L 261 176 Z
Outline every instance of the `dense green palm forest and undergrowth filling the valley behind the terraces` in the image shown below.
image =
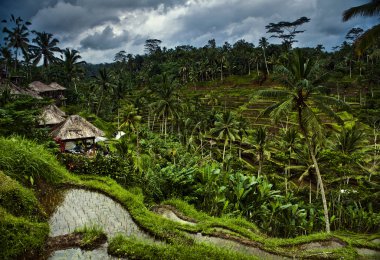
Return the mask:
M 370 4 L 344 19 L 377 14 L 378 1 Z M 271 33 L 293 28 L 276 36 L 279 45 L 262 37 L 259 46 L 211 39 L 167 49 L 149 39 L 144 55 L 122 50 L 115 62 L 93 65 L 59 49 L 50 33 L 30 41 L 31 25 L 11 16 L 0 56 L 0 135 L 38 140 L 72 173 L 140 187 L 147 204 L 181 198 L 271 236 L 380 232 L 379 38 L 356 29 L 332 52 L 292 48 L 294 32 L 303 32 L 295 28 L 309 20 L 270 24 Z M 67 87 L 63 109 L 104 130 L 111 154 L 58 154 L 48 130 L 36 127 L 49 101 L 11 95 L 14 77 L 23 87 Z M 113 139 L 118 131 L 126 135 Z M 25 176 L 33 186 L 35 174 Z

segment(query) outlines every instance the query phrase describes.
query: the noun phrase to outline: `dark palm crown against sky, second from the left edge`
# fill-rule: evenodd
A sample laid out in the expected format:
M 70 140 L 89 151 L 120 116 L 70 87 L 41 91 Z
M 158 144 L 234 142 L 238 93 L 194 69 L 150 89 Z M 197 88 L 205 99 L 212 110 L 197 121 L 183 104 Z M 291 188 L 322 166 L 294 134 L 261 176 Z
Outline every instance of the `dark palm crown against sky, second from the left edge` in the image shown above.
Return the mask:
M 46 68 L 50 63 L 56 62 L 58 59 L 54 56 L 54 53 L 61 53 L 61 49 L 57 47 L 59 43 L 58 39 L 53 38 L 53 34 L 46 32 L 33 31 L 36 38 L 33 42 L 37 45 L 31 46 L 33 52 L 33 64 L 37 65 L 41 59 L 43 59 L 43 65 Z

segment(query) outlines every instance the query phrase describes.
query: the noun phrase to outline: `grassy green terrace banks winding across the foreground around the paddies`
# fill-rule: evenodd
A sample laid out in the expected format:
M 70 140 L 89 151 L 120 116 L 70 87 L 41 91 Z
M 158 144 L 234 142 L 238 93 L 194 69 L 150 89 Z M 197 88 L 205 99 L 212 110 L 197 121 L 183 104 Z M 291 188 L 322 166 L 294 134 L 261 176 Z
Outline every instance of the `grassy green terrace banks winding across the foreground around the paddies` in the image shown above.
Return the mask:
M 199 243 L 192 234 L 224 238 L 243 246 L 257 247 L 273 255 L 288 257 L 323 256 L 356 258 L 356 248 L 380 250 L 376 236 L 324 233 L 294 239 L 263 236 L 257 227 L 240 218 L 214 218 L 198 212 L 187 203 L 173 199 L 170 205 L 182 215 L 193 219 L 195 225 L 181 224 L 149 210 L 138 188 L 125 190 L 114 180 L 98 176 L 74 176 L 68 173 L 42 146 L 14 137 L 0 138 L 0 258 L 13 259 L 44 247 L 48 234 L 44 210 L 34 196 L 42 184 L 55 188 L 81 187 L 101 192 L 118 201 L 130 212 L 134 221 L 147 233 L 164 243 L 146 243 L 131 238 L 116 237 L 110 241 L 109 252 L 131 259 L 254 259 L 252 255 L 233 252 L 223 247 Z M 8 177 L 9 176 L 9 177 Z M 17 208 L 9 206 L 9 194 Z M 12 197 L 13 198 L 13 197 Z M 313 248 L 313 242 L 322 244 Z M 338 247 L 323 245 L 337 243 Z M 305 249 L 306 248 L 306 249 Z

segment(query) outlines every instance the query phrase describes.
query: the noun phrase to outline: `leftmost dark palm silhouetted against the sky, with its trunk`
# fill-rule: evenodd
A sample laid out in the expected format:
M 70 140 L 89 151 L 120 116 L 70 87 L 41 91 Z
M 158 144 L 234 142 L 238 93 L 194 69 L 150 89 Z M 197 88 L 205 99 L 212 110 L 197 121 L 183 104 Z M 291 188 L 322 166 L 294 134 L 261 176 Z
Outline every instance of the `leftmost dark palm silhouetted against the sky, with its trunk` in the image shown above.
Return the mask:
M 7 27 L 4 27 L 3 33 L 7 34 L 6 37 L 4 37 L 4 41 L 7 43 L 7 46 L 9 48 L 15 49 L 15 69 L 17 69 L 17 63 L 18 63 L 18 53 L 21 49 L 21 52 L 26 55 L 29 48 L 29 30 L 28 25 L 30 25 L 30 22 L 25 22 L 20 17 L 15 18 L 13 15 L 11 15 L 10 22 L 15 24 L 15 27 L 12 29 L 8 29 Z

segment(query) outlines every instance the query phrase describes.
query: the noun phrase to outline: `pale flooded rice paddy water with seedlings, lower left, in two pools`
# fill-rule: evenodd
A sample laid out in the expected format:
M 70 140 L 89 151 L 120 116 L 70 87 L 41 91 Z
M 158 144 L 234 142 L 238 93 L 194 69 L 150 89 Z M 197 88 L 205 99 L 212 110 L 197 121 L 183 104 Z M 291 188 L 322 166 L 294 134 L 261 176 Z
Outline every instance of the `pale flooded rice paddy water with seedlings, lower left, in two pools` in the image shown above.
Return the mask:
M 49 219 L 50 236 L 69 234 L 83 226 L 98 226 L 107 234 L 108 239 L 116 234 L 135 236 L 153 241 L 133 221 L 131 215 L 119 203 L 111 198 L 93 191 L 68 189 L 50 194 L 48 202 L 53 207 Z M 49 259 L 114 259 L 107 254 L 107 245 L 93 251 L 79 248 L 53 252 Z

